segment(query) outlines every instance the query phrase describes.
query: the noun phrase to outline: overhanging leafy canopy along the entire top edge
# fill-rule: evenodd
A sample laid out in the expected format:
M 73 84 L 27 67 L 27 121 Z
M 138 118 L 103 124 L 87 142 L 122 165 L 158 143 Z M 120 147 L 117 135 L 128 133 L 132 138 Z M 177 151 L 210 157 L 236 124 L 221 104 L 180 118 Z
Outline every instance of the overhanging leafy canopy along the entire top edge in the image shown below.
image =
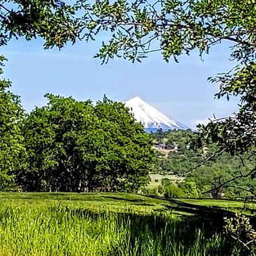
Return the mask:
M 193 49 L 208 53 L 222 40 L 234 43 L 232 59 L 255 57 L 254 0 L 2 0 L 0 18 L 1 45 L 13 36 L 41 36 L 46 47 L 63 47 L 108 31 L 109 43 L 97 55 L 103 61 L 114 56 L 140 60 L 152 51 L 177 60 Z

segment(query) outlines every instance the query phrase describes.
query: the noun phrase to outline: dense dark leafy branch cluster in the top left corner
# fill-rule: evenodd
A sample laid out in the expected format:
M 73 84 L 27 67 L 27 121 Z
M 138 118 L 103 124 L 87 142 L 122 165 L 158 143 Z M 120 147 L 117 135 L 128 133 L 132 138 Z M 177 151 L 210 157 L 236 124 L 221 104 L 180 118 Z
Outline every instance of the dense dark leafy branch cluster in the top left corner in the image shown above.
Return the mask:
M 1 0 L 0 46 L 21 36 L 26 40 L 40 36 L 46 48 L 75 43 L 81 29 L 73 16 L 76 10 L 75 5 L 60 0 Z

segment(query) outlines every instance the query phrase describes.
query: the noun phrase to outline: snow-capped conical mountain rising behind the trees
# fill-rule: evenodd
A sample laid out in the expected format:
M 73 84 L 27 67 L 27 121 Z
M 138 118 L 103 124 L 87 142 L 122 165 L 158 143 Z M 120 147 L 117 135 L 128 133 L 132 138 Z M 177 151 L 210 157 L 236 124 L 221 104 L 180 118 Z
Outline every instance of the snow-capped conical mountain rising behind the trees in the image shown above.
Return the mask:
M 187 130 L 188 126 L 183 125 L 180 122 L 174 121 L 167 115 L 161 113 L 153 106 L 147 104 L 140 97 L 134 97 L 129 101 L 123 102 L 127 108 L 134 114 L 134 118 L 142 123 L 144 129 L 148 132 L 156 131 L 162 128 L 166 130 Z

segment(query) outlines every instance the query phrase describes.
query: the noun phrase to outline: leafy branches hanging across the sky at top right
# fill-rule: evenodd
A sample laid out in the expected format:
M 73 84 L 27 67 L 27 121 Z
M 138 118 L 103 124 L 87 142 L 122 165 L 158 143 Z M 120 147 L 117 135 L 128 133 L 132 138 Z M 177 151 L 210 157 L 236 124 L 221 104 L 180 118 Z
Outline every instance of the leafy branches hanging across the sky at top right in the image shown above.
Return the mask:
M 160 51 L 164 60 L 177 58 L 193 49 L 199 55 L 224 40 L 234 44 L 232 59 L 251 60 L 255 53 L 256 11 L 254 3 L 219 0 L 97 1 L 84 11 L 88 39 L 109 31 L 97 57 L 105 63 L 115 56 L 141 61 Z

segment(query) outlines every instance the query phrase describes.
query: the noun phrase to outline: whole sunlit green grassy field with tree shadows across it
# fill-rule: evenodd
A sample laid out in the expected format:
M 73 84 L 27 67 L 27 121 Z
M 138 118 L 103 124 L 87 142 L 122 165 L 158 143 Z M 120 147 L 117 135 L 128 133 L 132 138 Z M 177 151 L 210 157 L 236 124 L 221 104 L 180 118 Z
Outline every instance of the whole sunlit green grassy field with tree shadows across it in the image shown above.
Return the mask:
M 224 201 L 197 201 L 0 193 L 0 255 L 238 255 L 222 234 L 223 216 L 232 213 L 216 213 Z

